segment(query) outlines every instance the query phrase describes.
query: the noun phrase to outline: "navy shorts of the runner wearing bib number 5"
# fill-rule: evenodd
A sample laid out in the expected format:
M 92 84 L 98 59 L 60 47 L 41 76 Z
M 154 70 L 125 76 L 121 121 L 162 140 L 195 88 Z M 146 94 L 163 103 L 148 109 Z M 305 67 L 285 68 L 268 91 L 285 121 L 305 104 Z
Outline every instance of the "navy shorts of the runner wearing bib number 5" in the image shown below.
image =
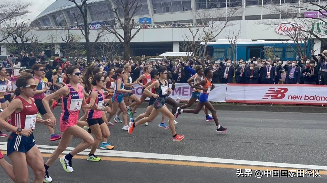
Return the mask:
M 27 153 L 33 146 L 35 146 L 35 139 L 33 133 L 29 136 L 12 133 L 7 140 L 7 156 L 14 151 Z

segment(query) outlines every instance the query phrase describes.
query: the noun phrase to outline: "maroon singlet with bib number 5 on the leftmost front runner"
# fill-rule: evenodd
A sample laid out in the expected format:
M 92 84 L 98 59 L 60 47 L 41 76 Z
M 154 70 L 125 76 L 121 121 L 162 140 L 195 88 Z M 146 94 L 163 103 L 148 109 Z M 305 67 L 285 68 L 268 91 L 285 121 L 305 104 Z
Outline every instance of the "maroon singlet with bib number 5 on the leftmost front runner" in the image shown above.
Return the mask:
M 32 103 L 28 103 L 20 96 L 15 97 L 15 99 L 19 99 L 23 103 L 23 110 L 19 113 L 13 112 L 11 114 L 11 125 L 17 128 L 33 130 L 35 128 L 36 114 L 38 113 L 34 100 L 30 98 Z

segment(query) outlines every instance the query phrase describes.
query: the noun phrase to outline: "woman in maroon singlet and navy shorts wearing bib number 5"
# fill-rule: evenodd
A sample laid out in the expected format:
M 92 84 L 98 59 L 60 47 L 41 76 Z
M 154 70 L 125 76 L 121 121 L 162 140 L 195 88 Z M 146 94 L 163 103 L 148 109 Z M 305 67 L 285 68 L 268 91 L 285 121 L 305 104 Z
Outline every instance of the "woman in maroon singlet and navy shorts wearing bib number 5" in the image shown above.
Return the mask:
M 40 150 L 35 146 L 33 129 L 35 123 L 43 123 L 52 126 L 51 120 L 37 119 L 38 109 L 32 96 L 36 92 L 37 84 L 29 73 L 21 73 L 16 80 L 16 97 L 9 106 L 0 113 L 0 126 L 12 131 L 7 143 L 7 156 L 12 166 L 3 159 L 0 152 L 0 164 L 14 182 L 28 182 L 29 165 L 34 174 L 34 182 L 43 181 L 44 166 Z M 12 119 L 12 125 L 6 122 L 8 117 Z

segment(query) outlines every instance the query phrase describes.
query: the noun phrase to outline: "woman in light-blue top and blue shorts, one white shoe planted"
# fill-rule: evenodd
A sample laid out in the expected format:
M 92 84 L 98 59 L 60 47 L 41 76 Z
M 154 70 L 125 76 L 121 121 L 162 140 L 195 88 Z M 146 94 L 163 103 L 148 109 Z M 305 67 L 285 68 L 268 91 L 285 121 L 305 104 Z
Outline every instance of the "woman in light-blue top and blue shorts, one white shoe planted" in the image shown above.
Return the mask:
M 115 84 L 115 93 L 112 96 L 112 112 L 110 113 L 110 116 L 108 118 L 108 121 L 111 120 L 111 118 L 116 114 L 117 108 L 119 107 L 120 110 L 123 112 L 123 130 L 128 130 L 128 124 L 127 124 L 127 108 L 124 102 L 124 92 L 132 93 L 132 90 L 125 90 L 124 87 L 124 76 L 125 72 L 123 69 L 117 69 L 116 70 L 116 84 Z

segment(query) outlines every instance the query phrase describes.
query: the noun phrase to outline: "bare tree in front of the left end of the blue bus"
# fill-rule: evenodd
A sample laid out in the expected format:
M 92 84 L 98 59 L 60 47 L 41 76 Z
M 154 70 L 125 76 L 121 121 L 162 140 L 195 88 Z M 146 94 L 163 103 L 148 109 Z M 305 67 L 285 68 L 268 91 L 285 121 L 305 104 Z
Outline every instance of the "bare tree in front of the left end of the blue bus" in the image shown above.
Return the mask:
M 204 24 L 202 26 L 203 32 L 203 42 L 204 46 L 201 49 L 200 56 L 202 58 L 206 55 L 206 49 L 208 42 L 213 41 L 226 27 L 230 26 L 229 18 L 219 21 L 219 17 L 225 17 L 225 13 L 219 13 L 218 9 L 210 9 L 208 11 L 197 12 L 198 17 L 201 19 L 201 22 Z M 238 11 L 235 9 L 230 9 L 227 14 L 229 17 L 235 17 L 238 14 Z

